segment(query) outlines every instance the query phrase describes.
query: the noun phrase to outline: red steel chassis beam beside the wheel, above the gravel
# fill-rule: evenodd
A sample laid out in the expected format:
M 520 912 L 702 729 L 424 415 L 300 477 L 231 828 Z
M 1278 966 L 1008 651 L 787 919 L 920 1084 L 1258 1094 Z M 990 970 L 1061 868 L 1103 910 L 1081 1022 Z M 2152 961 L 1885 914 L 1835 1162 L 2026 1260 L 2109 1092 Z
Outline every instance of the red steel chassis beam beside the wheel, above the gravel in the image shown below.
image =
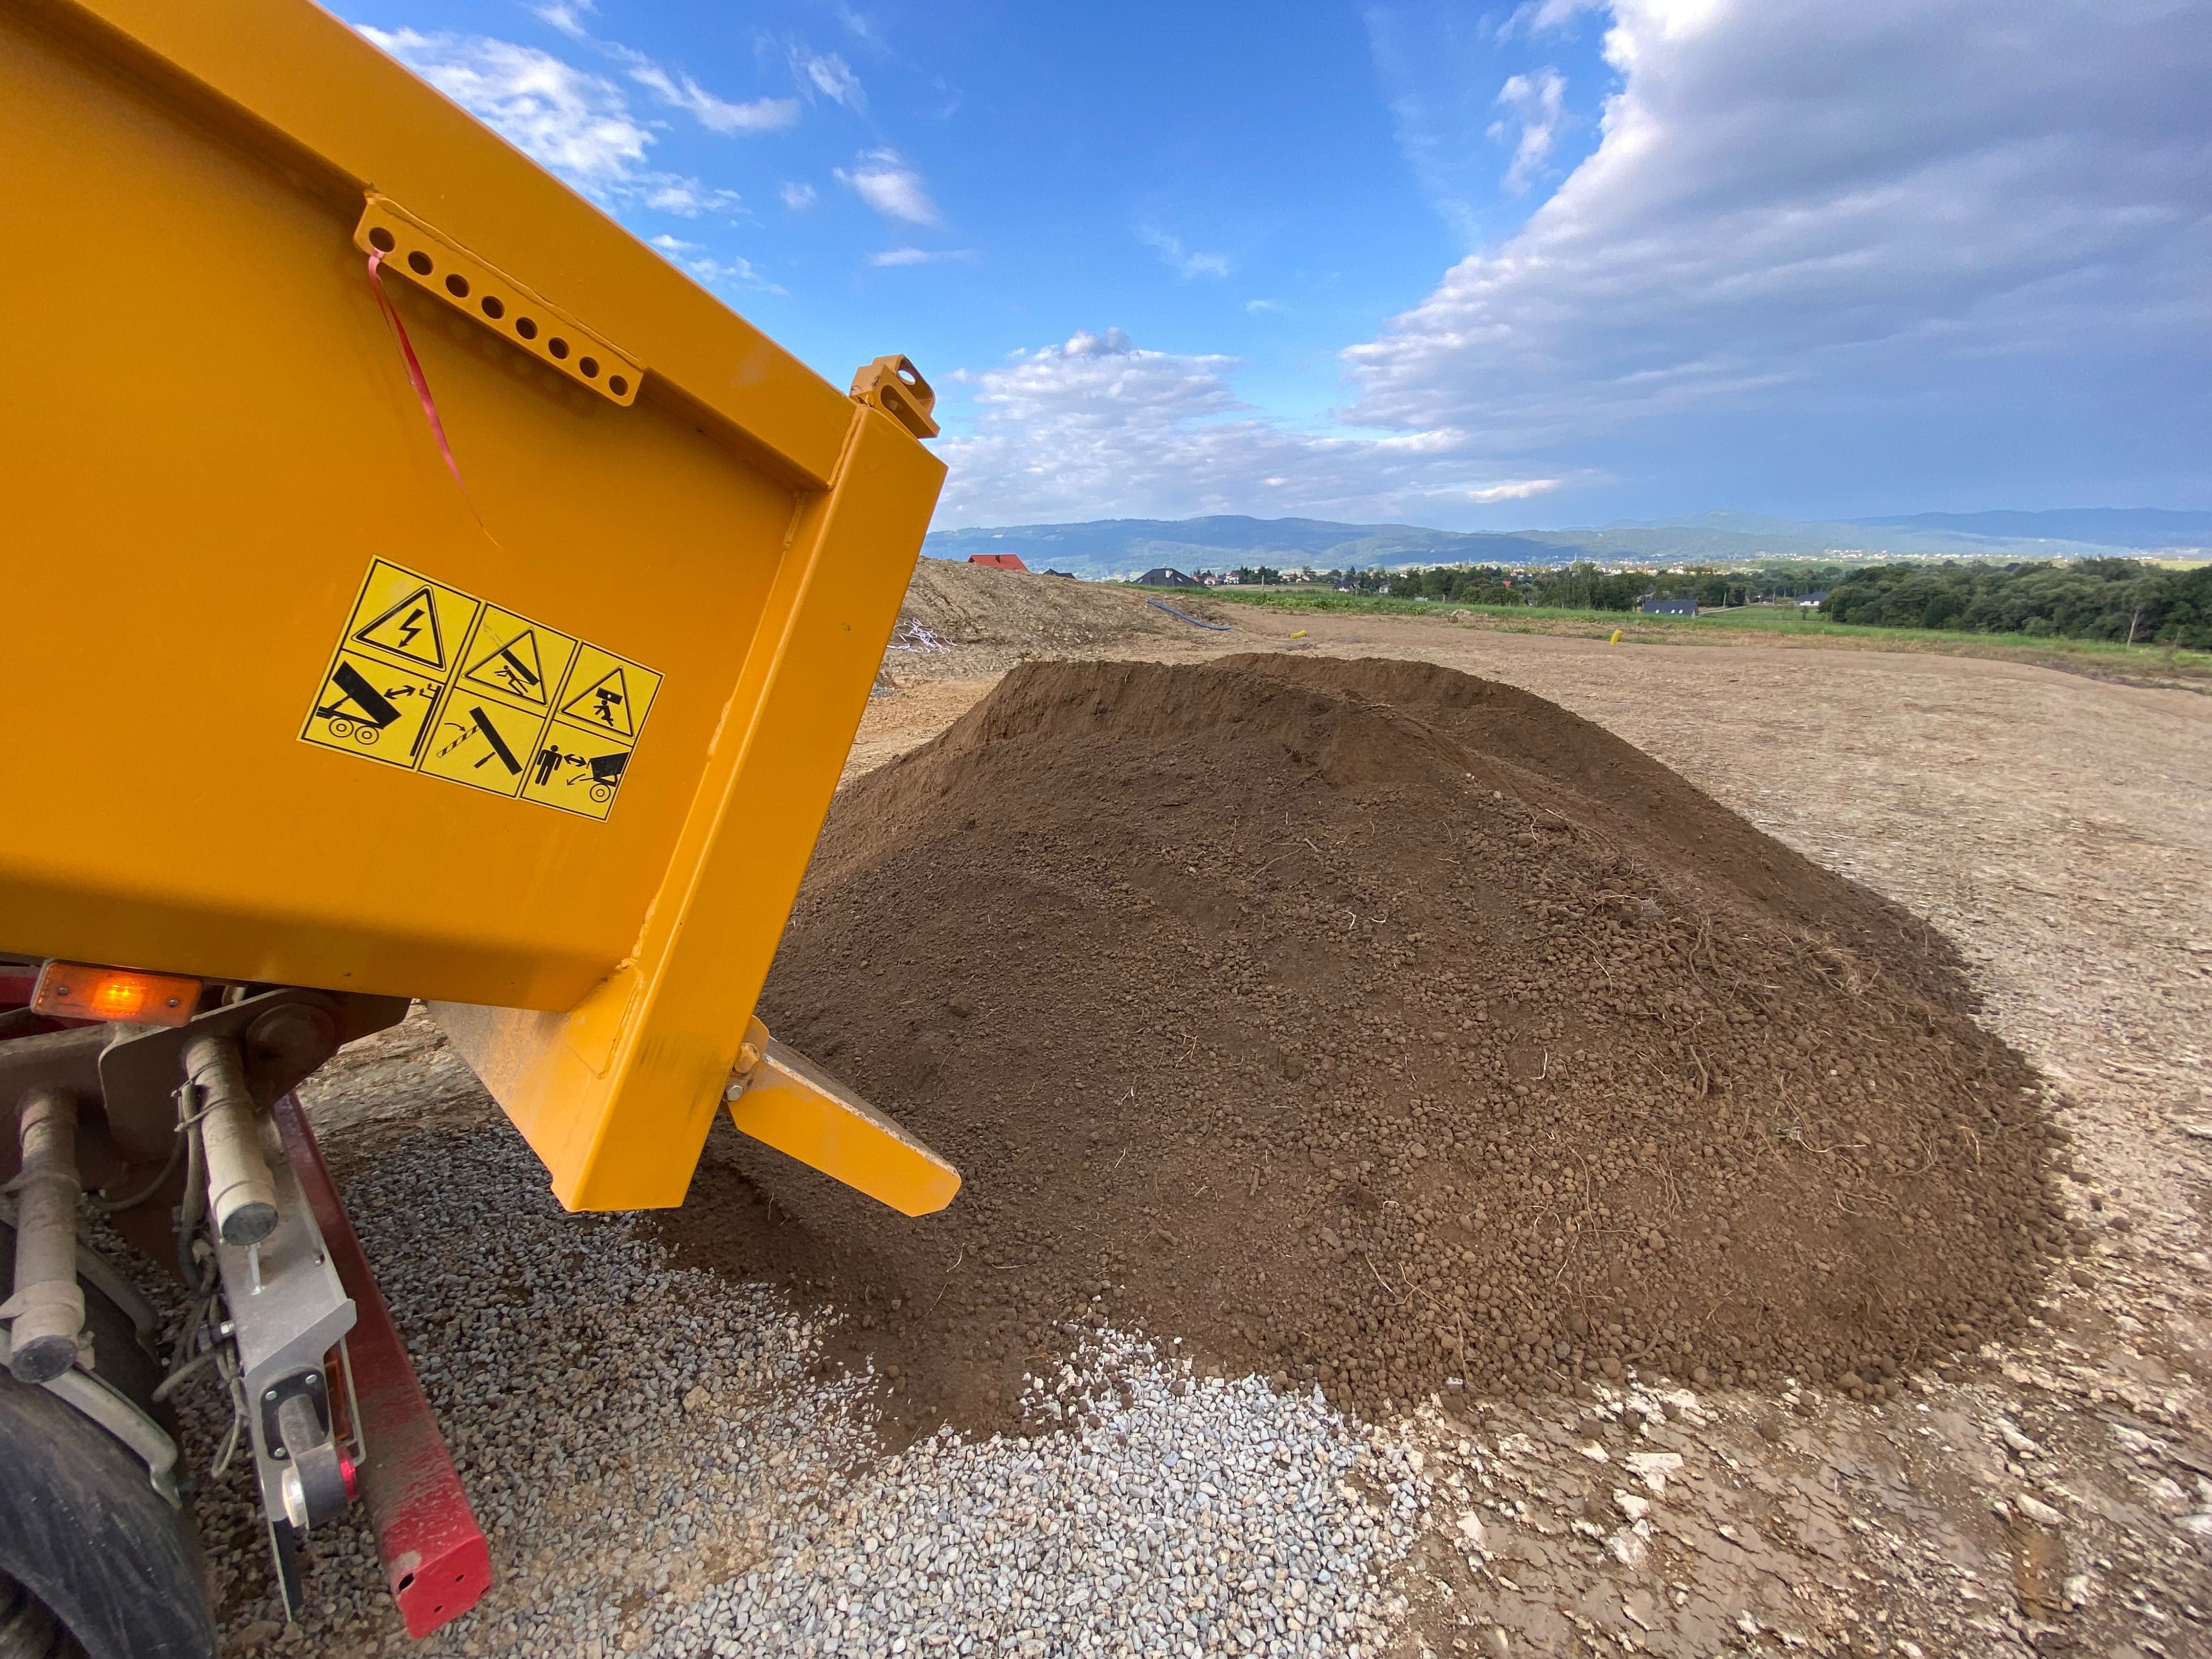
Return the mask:
M 427 1637 L 473 1608 L 491 1588 L 491 1548 L 460 1489 L 460 1475 L 453 1473 L 445 1436 L 438 1433 L 438 1420 L 407 1363 L 407 1347 L 376 1290 L 369 1261 L 361 1254 L 354 1223 L 338 1203 L 338 1188 L 323 1166 L 323 1150 L 314 1144 L 299 1097 L 279 1099 L 274 1117 L 283 1150 L 323 1230 L 330 1261 L 345 1294 L 354 1298 L 356 1323 L 347 1352 L 365 1442 L 361 1502 L 369 1509 L 385 1584 L 407 1619 L 407 1635 Z

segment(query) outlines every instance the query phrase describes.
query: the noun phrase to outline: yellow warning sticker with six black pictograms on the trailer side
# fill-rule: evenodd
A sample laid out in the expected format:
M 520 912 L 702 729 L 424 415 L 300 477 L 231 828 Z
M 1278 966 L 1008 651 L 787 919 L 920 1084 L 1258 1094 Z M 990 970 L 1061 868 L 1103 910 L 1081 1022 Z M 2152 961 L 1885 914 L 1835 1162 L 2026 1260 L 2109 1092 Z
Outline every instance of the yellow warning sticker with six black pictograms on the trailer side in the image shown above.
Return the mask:
M 374 560 L 301 739 L 606 818 L 661 677 Z

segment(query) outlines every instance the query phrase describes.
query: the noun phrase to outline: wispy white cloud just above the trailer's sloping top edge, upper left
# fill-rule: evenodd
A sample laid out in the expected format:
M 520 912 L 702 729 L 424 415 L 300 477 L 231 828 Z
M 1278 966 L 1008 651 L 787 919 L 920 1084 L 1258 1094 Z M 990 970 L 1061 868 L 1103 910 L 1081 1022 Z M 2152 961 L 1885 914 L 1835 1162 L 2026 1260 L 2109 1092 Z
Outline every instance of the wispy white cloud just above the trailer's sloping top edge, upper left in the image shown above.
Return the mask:
M 684 217 L 739 206 L 732 190 L 646 166 L 653 128 L 630 113 L 622 86 L 604 75 L 487 35 L 361 33 L 597 201 Z

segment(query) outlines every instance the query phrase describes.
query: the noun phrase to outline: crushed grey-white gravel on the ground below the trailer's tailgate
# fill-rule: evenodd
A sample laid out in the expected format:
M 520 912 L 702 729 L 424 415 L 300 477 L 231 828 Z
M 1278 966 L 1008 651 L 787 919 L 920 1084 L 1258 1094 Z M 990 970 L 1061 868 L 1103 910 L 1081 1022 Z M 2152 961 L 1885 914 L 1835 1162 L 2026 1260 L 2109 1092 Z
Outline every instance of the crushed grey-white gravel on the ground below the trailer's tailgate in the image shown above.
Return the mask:
M 564 1214 L 504 1121 L 332 1139 L 498 1582 L 411 1644 L 367 1528 L 332 1526 L 279 1630 L 234 1473 L 201 1498 L 234 1650 L 1369 1655 L 1402 1610 L 1420 1460 L 1314 1396 L 1086 1334 L 1031 1378 L 1037 1433 L 883 1455 L 874 1385 L 810 1374 L 816 1316 Z

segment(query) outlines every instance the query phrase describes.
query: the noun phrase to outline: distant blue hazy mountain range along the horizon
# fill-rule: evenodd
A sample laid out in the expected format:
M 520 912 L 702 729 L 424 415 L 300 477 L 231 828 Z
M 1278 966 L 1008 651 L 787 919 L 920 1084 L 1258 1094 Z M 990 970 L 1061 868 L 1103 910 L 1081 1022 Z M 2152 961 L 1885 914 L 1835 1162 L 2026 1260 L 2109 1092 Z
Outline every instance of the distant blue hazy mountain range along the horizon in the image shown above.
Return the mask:
M 931 531 L 936 560 L 1020 553 L 1033 571 L 1084 577 L 1237 564 L 1573 564 L 1745 560 L 2004 557 L 2053 560 L 2212 546 L 2212 513 L 2086 507 L 2048 513 L 1913 513 L 1805 522 L 1759 513 L 1699 513 L 1571 531 L 1431 531 L 1418 524 L 1332 524 L 1318 518 L 1102 518 L 1088 524 L 1013 524 Z

